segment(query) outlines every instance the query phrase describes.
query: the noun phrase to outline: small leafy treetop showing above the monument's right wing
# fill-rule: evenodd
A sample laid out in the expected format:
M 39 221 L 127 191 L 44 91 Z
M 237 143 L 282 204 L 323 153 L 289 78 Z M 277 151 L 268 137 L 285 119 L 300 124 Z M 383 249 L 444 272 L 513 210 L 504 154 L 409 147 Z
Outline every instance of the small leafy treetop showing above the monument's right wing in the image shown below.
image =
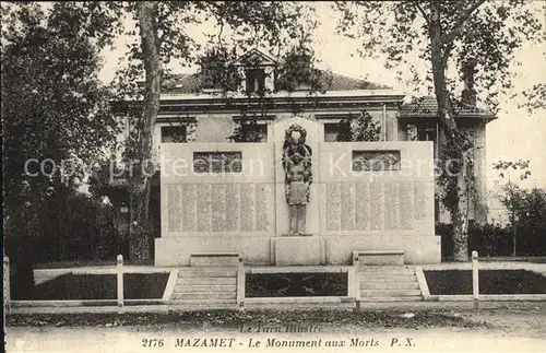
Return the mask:
M 340 121 L 340 131 L 336 141 L 357 142 L 357 141 L 379 141 L 381 136 L 381 125 L 375 121 L 368 111 L 359 111 L 356 116 L 342 119 Z

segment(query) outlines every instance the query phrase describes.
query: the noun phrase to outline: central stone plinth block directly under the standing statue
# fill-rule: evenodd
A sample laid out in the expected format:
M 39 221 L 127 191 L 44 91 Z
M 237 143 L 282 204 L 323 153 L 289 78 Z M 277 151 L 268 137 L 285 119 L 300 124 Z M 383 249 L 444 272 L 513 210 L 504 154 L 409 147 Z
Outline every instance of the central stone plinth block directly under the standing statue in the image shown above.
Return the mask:
M 324 242 L 316 236 L 286 236 L 274 239 L 276 266 L 324 264 Z

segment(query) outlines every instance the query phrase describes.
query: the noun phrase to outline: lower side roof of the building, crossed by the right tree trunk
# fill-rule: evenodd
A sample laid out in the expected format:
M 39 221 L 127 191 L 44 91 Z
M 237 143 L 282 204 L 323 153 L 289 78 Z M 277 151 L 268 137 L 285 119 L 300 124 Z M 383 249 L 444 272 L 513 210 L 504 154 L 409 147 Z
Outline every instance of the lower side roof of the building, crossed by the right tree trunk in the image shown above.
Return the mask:
M 458 117 L 482 117 L 484 119 L 496 119 L 489 110 L 472 105 L 453 105 L 453 111 Z M 436 117 L 438 115 L 438 102 L 435 96 L 414 98 L 400 107 L 399 117 Z

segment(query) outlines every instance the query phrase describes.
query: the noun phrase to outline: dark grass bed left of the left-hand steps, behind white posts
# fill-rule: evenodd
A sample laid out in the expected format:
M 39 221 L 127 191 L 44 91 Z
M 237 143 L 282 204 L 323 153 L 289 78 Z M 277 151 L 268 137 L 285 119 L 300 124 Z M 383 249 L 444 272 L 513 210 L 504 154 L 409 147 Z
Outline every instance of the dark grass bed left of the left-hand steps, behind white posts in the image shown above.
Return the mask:
M 168 273 L 126 273 L 123 295 L 126 299 L 162 298 Z M 64 274 L 34 287 L 35 301 L 116 299 L 115 274 Z M 17 299 L 17 298 L 14 298 Z

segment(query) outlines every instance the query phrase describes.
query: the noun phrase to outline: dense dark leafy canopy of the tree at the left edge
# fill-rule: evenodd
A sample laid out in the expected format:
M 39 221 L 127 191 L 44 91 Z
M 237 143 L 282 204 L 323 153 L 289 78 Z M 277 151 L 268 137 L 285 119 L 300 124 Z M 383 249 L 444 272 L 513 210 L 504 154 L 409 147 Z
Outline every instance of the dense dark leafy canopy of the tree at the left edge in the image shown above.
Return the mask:
M 117 132 L 108 91 L 98 79 L 97 47 L 69 7 L 58 3 L 54 10 L 46 14 L 36 4 L 2 8 L 7 200 L 33 185 L 44 191 L 61 178 L 76 183 L 83 176 L 76 167 L 104 156 Z M 46 158 L 51 160 L 44 164 L 47 175 L 24 173 L 25 166 L 39 172 Z

